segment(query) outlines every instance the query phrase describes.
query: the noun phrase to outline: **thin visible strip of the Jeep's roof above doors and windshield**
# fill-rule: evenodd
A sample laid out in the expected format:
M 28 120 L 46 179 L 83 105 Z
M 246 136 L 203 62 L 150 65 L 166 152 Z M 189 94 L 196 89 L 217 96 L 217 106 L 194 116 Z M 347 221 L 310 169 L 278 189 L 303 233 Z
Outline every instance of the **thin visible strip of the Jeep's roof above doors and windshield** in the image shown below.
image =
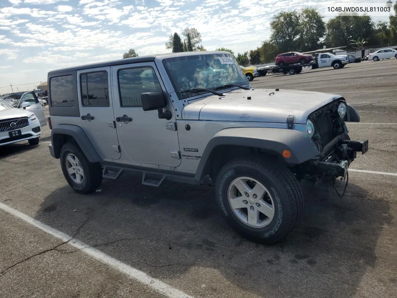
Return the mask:
M 125 59 L 118 59 L 106 62 L 98 62 L 92 64 L 85 64 L 79 66 L 72 66 L 69 68 L 61 68 L 57 70 L 51 70 L 48 72 L 48 75 L 52 74 L 60 74 L 62 72 L 72 72 L 76 70 L 84 70 L 88 68 L 97 68 L 97 67 L 105 67 L 105 66 L 115 66 L 115 65 L 122 65 L 122 64 L 129 64 L 129 63 L 145 63 L 145 62 L 154 62 L 156 57 L 160 56 L 169 56 L 172 57 L 180 57 L 180 56 L 193 56 L 193 55 L 205 55 L 205 54 L 230 54 L 229 52 L 225 51 L 195 51 L 195 52 L 179 52 L 179 53 L 167 53 L 167 54 L 156 54 L 156 55 L 148 55 L 148 56 L 141 56 L 141 57 L 134 57 L 134 58 L 125 58 Z

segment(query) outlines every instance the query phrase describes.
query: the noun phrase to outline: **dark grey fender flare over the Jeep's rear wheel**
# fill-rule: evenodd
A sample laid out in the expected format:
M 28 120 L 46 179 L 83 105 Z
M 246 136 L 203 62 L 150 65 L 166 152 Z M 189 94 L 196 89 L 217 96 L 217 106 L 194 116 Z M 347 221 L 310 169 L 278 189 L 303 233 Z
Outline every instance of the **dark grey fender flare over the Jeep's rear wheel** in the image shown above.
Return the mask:
M 53 157 L 59 158 L 59 153 L 63 145 L 63 143 L 60 143 L 59 137 L 62 135 L 73 137 L 90 163 L 102 161 L 84 130 L 79 126 L 71 124 L 60 124 L 51 130 L 51 145 L 49 147 Z

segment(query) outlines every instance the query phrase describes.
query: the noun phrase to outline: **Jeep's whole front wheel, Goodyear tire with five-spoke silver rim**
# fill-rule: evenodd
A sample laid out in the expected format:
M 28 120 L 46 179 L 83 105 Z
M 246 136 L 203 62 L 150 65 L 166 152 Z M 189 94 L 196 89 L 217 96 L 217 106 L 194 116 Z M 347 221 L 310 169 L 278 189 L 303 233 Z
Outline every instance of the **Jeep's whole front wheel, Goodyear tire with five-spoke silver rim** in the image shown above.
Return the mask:
M 216 179 L 216 198 L 227 223 L 249 240 L 284 240 L 303 213 L 303 195 L 293 173 L 260 157 L 227 163 Z

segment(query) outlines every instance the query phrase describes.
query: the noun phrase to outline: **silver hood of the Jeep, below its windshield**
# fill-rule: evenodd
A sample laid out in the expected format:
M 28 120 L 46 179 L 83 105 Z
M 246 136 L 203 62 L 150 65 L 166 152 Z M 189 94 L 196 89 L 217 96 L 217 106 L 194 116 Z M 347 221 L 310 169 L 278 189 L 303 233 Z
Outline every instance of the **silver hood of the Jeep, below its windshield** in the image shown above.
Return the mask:
M 311 112 L 341 98 L 336 94 L 283 89 L 236 89 L 224 94 L 223 98 L 213 95 L 188 104 L 183 108 L 184 119 L 287 123 L 291 115 L 296 124 L 305 124 Z

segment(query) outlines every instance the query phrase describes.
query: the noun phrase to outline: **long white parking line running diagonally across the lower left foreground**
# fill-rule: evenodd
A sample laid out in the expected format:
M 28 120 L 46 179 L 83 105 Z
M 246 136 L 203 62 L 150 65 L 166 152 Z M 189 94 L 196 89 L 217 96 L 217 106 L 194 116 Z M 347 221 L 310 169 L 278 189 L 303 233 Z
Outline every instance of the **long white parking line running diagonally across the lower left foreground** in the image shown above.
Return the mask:
M 69 245 L 77 248 L 83 253 L 87 253 L 87 255 L 90 255 L 94 259 L 114 267 L 116 270 L 125 273 L 132 279 L 135 279 L 139 281 L 140 283 L 145 284 L 146 286 L 149 286 L 153 288 L 154 290 L 160 292 L 161 294 L 164 294 L 167 297 L 170 298 L 193 298 L 193 296 L 189 296 L 188 294 L 177 290 L 176 288 L 173 288 L 169 284 L 163 283 L 162 281 L 159 281 L 158 279 L 154 279 L 147 275 L 145 272 L 140 271 L 138 269 L 135 269 L 121 261 L 118 261 L 117 259 L 111 257 L 110 255 L 107 255 L 106 253 L 101 252 L 100 250 L 96 250 L 95 248 L 92 248 L 91 246 L 88 246 L 87 244 L 73 239 L 72 236 L 69 236 L 63 232 L 60 232 L 44 223 L 41 223 L 40 221 L 37 221 L 25 213 L 22 213 L 18 210 L 15 210 L 11 208 L 10 206 L 1 203 L 0 202 L 0 209 L 6 211 L 7 213 L 10 213 L 16 217 L 19 217 L 23 221 L 26 221 L 27 223 L 39 228 L 40 230 L 43 230 L 44 232 L 62 240 L 62 241 L 69 241 L 67 242 Z

